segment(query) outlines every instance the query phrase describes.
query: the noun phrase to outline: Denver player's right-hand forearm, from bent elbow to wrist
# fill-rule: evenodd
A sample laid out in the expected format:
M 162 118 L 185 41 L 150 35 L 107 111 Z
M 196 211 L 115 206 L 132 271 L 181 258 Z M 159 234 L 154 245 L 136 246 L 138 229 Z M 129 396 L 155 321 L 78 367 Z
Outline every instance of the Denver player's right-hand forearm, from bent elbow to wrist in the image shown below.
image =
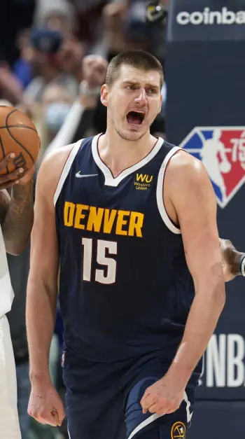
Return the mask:
M 223 279 L 217 279 L 215 287 L 211 286 L 210 282 L 203 283 L 200 291 L 196 292 L 183 339 L 168 372 L 168 375 L 174 380 L 177 379 L 183 387 L 202 358 L 224 305 Z

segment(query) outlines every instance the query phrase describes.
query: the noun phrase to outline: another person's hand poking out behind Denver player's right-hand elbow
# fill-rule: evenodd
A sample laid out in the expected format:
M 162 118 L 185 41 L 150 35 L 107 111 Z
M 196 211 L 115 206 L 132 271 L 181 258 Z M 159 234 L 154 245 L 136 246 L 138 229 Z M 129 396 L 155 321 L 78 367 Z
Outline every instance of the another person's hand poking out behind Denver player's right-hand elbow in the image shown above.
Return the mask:
M 220 239 L 223 274 L 225 282 L 232 281 L 239 274 L 241 254 L 229 239 Z

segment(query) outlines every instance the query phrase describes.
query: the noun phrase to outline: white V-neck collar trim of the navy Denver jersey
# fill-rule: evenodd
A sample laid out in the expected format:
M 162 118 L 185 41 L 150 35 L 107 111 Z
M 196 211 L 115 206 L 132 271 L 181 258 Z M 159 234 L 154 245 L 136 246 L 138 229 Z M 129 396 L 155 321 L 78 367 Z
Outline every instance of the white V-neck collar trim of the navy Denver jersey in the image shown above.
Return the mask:
M 158 153 L 158 151 L 160 150 L 160 148 L 164 142 L 163 139 L 159 138 L 158 141 L 156 141 L 155 146 L 153 146 L 153 149 L 151 150 L 151 152 L 148 153 L 148 155 L 146 155 L 146 157 L 144 157 L 142 160 L 140 160 L 135 165 L 128 167 L 123 172 L 121 172 L 117 177 L 114 178 L 113 175 L 111 174 L 111 170 L 109 169 L 109 167 L 107 167 L 104 164 L 104 162 L 102 161 L 102 159 L 99 157 L 97 142 L 98 142 L 98 139 L 100 136 L 101 136 L 101 134 L 97 134 L 97 136 L 95 136 L 94 139 L 92 139 L 92 156 L 94 158 L 94 162 L 99 167 L 99 169 L 102 171 L 102 174 L 104 174 L 105 186 L 113 186 L 114 188 L 116 188 L 118 186 L 118 184 L 123 179 L 125 179 L 125 177 L 129 176 L 133 172 L 137 171 L 137 169 L 141 168 L 142 166 L 144 166 L 148 162 L 150 162 L 151 159 L 153 159 L 153 157 L 155 157 L 155 155 Z

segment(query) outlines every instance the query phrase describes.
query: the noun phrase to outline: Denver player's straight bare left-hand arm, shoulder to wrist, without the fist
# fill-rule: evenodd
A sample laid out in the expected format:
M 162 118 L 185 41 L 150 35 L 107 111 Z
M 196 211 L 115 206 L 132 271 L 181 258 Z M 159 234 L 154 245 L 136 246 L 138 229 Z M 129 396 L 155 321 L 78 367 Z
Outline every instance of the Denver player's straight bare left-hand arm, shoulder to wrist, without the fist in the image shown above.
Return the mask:
M 59 269 L 53 196 L 68 155 L 66 151 L 62 148 L 44 160 L 36 183 L 26 309 L 31 384 L 50 381 L 48 360 L 56 319 Z

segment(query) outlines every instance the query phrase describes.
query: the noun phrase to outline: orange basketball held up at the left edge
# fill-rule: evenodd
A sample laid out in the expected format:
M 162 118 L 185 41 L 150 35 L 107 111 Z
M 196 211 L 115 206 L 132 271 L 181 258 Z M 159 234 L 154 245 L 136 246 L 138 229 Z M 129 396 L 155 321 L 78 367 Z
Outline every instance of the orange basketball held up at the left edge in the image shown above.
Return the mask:
M 36 162 L 40 139 L 29 117 L 11 106 L 0 106 L 0 162 L 8 154 L 15 158 L 0 171 L 9 174 L 15 169 L 31 169 Z

